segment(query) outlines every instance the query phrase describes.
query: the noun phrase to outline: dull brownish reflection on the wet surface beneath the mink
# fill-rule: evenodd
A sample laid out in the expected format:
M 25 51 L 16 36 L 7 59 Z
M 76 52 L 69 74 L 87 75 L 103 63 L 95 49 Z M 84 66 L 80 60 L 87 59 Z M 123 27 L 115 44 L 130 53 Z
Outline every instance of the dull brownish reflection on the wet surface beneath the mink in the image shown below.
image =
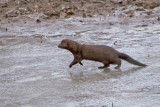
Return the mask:
M 121 78 L 122 76 L 129 76 L 132 73 L 138 72 L 144 67 L 134 67 L 129 70 L 124 70 L 122 71 L 121 69 L 115 69 L 115 70 L 110 70 L 109 68 L 104 69 L 102 72 L 92 72 L 90 74 L 84 73 L 84 72 L 79 72 L 77 74 L 74 74 L 70 72 L 70 77 L 72 81 L 76 82 L 87 82 L 87 81 L 100 81 L 100 80 L 107 80 L 107 79 L 118 79 Z

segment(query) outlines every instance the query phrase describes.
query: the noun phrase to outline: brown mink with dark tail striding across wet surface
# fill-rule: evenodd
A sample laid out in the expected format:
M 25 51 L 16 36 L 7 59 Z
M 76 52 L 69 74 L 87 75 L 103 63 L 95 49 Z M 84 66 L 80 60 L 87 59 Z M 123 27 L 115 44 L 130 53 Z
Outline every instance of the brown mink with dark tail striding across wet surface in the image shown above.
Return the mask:
M 77 63 L 83 65 L 81 61 L 84 59 L 103 63 L 104 66 L 99 68 L 106 68 L 110 64 L 116 64 L 117 66 L 115 68 L 118 69 L 121 66 L 121 59 L 124 59 L 134 65 L 146 66 L 145 64 L 134 60 L 130 56 L 120 53 L 112 47 L 105 45 L 82 45 L 75 41 L 64 39 L 58 47 L 66 49 L 73 54 L 74 60 L 69 65 L 70 68 Z

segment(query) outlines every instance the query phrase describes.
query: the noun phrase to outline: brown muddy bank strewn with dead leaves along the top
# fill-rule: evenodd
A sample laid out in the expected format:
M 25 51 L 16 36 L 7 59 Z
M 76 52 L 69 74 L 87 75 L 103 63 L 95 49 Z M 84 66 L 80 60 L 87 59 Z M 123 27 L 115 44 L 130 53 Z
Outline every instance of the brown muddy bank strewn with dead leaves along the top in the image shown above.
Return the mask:
M 134 17 L 134 11 L 152 10 L 160 6 L 159 0 L 2 0 L 0 17 L 13 17 L 34 14 L 40 22 L 42 19 L 59 19 L 69 17 L 95 17 L 115 15 L 121 7 L 124 14 Z M 133 9 L 132 7 L 136 7 Z M 152 12 L 148 13 L 149 15 Z M 123 14 L 121 13 L 123 16 Z

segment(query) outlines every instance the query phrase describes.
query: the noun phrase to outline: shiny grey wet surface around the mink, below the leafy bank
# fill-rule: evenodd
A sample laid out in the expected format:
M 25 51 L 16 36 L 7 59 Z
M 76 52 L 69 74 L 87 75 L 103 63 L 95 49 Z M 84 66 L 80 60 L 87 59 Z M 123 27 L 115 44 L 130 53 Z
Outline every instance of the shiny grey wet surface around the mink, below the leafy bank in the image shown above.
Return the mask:
M 0 32 L 2 107 L 159 107 L 159 22 L 70 18 L 3 27 L 8 31 Z M 149 66 L 123 61 L 120 70 L 99 70 L 100 63 L 82 61 L 84 66 L 70 69 L 73 56 L 57 47 L 64 38 L 112 46 Z

